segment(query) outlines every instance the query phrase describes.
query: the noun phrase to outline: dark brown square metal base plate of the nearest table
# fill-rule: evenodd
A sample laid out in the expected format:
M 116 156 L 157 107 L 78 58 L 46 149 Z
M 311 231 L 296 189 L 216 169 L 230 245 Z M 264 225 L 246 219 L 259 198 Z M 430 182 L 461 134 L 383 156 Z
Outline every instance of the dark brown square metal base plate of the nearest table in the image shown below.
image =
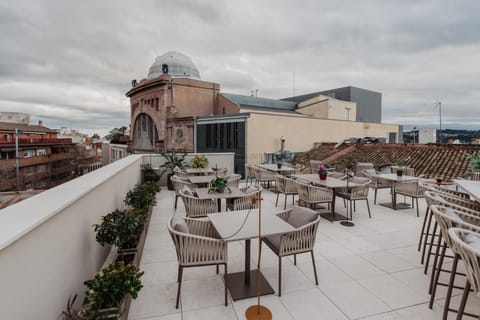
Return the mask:
M 224 276 L 225 281 L 227 281 L 227 288 L 234 301 L 257 296 L 257 274 L 258 270 L 250 271 L 250 284 L 245 283 L 245 272 L 229 273 Z M 275 293 L 262 273 L 260 273 L 260 290 L 262 296 Z

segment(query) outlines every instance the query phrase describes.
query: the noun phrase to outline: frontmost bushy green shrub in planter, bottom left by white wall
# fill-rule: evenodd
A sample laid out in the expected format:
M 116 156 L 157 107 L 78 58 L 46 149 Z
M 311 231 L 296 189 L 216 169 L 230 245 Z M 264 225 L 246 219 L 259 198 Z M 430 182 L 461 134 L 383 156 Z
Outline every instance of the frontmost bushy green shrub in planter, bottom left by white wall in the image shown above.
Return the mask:
M 103 319 L 102 309 L 120 308 L 125 295 L 136 299 L 143 287 L 141 272 L 132 264 L 123 262 L 110 264 L 91 280 L 84 282 L 88 288 L 83 300 L 84 305 L 95 315 L 94 319 Z

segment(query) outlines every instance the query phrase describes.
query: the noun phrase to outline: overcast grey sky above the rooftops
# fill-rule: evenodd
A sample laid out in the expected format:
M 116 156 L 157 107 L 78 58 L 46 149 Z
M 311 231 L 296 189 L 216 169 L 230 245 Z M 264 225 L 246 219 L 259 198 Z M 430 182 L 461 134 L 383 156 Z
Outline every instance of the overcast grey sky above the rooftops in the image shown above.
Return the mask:
M 106 134 L 157 55 L 223 92 L 379 91 L 383 122 L 480 129 L 480 1 L 0 0 L 0 111 Z

